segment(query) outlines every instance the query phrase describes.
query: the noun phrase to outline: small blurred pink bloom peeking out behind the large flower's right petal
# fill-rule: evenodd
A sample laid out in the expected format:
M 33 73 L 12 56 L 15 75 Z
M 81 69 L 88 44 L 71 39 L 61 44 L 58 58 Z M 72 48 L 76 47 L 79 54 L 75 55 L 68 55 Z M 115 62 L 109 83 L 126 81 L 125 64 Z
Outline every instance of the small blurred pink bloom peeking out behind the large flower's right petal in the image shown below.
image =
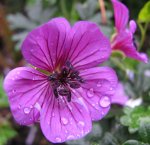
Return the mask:
M 123 85 L 118 83 L 115 94 L 112 96 L 111 102 L 113 104 L 125 105 L 129 97 L 125 94 Z

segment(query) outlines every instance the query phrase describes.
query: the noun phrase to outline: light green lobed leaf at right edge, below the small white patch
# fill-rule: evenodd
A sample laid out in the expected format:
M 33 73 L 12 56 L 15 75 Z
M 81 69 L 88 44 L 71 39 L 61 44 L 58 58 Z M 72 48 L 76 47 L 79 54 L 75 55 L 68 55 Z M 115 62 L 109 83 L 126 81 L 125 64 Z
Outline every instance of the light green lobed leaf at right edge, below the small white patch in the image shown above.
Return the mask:
M 121 117 L 122 125 L 128 126 L 130 133 L 135 133 L 140 128 L 140 124 L 150 123 L 150 107 L 143 106 L 128 108 L 124 110 L 125 115 Z

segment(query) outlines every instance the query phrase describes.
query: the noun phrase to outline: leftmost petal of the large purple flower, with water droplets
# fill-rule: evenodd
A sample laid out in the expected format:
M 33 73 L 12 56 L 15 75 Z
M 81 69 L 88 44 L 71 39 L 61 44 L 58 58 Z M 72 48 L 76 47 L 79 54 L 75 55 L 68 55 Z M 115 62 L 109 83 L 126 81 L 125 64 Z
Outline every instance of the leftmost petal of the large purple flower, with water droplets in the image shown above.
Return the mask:
M 4 80 L 10 108 L 15 120 L 29 125 L 39 119 L 42 101 L 47 93 L 47 79 L 29 67 L 16 68 Z

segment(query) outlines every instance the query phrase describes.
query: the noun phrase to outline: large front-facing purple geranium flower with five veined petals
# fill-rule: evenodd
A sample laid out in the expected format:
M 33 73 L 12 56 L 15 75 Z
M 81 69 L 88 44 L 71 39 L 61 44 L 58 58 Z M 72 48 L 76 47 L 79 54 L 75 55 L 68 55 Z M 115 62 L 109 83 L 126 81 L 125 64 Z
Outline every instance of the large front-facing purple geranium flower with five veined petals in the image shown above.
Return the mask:
M 81 138 L 110 109 L 117 76 L 97 67 L 110 55 L 109 40 L 87 21 L 72 28 L 55 18 L 34 29 L 22 45 L 31 67 L 9 72 L 4 88 L 11 111 L 21 125 L 40 121 L 51 142 Z

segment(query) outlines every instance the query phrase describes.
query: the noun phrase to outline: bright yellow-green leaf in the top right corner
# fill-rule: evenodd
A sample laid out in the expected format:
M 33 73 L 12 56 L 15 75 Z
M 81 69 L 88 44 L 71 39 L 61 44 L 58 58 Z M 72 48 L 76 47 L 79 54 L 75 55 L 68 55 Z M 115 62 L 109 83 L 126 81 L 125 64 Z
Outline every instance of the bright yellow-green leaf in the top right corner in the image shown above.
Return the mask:
M 150 1 L 141 9 L 138 19 L 140 22 L 150 22 Z

